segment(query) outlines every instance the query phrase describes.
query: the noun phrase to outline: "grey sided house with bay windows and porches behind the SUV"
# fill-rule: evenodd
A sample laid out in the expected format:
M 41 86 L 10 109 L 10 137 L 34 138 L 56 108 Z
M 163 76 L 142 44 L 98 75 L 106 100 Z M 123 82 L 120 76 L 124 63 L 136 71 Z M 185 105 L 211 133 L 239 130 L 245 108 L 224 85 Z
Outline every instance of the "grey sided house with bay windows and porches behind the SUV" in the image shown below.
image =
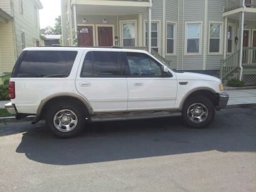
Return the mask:
M 64 46 L 144 49 L 176 70 L 256 83 L 256 0 L 61 0 L 61 23 Z

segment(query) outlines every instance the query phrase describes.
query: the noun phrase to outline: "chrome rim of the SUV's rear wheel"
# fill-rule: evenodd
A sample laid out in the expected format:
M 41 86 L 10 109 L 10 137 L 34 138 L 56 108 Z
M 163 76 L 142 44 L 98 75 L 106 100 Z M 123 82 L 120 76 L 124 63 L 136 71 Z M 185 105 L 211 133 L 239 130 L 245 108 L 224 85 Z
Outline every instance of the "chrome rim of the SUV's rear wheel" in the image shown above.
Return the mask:
M 70 132 L 77 127 L 77 115 L 69 109 L 63 109 L 57 112 L 53 118 L 53 123 L 61 132 Z

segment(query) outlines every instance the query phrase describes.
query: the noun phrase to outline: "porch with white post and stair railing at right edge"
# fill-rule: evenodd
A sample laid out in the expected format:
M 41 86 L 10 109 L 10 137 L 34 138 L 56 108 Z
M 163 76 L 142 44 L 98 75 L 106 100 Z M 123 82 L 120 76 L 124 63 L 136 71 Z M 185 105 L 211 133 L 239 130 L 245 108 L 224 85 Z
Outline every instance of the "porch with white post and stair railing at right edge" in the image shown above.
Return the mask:
M 225 45 L 220 78 L 256 84 L 256 0 L 225 1 Z

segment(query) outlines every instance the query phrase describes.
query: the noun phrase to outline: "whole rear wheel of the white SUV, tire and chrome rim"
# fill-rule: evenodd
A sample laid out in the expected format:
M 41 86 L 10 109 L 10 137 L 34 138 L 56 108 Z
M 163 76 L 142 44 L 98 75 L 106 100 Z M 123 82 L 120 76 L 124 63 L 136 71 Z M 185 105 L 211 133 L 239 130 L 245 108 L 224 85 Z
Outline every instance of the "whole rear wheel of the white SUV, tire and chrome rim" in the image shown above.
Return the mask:
M 57 137 L 74 137 L 82 132 L 85 114 L 77 104 L 58 102 L 46 112 L 46 125 Z

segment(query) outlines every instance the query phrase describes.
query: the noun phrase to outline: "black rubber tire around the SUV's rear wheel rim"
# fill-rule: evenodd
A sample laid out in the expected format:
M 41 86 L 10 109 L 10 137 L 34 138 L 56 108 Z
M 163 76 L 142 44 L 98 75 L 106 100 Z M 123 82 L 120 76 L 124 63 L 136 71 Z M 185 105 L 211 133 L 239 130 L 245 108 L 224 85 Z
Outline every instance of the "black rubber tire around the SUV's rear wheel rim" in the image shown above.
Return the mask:
M 67 112 L 73 112 L 75 114 L 73 119 L 77 120 L 76 125 L 74 124 L 75 127 L 72 127 L 71 131 L 65 131 L 65 129 L 61 130 L 60 127 L 57 128 L 55 115 L 63 110 L 67 110 Z M 47 111 L 45 115 L 45 122 L 46 126 L 50 129 L 50 131 L 56 136 L 60 138 L 70 138 L 70 137 L 75 137 L 80 132 L 82 132 L 84 126 L 85 126 L 85 118 L 86 114 L 83 111 L 82 107 L 80 107 L 78 104 L 75 102 L 57 102 L 55 105 L 52 105 Z M 63 125 L 65 127 L 65 125 Z M 60 129 L 60 130 L 58 130 Z

